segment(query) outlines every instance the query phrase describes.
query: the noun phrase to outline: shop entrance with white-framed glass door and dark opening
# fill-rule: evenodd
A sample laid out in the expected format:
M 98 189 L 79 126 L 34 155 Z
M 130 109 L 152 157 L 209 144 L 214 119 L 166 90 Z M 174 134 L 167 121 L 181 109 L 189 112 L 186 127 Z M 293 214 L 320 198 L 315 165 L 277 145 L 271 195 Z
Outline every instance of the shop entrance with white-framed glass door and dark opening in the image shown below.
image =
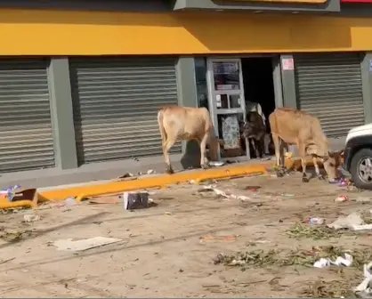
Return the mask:
M 225 142 L 222 158 L 251 158 L 249 144 L 239 135 L 239 126 L 253 103 L 260 104 L 266 118 L 275 107 L 283 106 L 274 86 L 280 80 L 274 71 L 279 55 L 198 57 L 194 63 L 198 107 L 210 111 L 214 129 Z

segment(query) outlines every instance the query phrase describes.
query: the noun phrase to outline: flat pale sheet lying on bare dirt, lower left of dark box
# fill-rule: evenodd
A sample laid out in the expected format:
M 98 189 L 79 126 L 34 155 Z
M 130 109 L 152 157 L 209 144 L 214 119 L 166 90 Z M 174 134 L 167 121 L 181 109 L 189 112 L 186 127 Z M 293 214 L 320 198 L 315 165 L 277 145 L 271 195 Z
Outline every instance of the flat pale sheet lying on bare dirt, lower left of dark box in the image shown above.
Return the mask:
M 84 238 L 73 241 L 72 238 L 60 239 L 53 242 L 53 246 L 57 247 L 57 250 L 63 251 L 83 251 L 98 246 L 105 246 L 112 243 L 120 242 L 120 238 L 105 238 L 105 237 L 94 237 Z

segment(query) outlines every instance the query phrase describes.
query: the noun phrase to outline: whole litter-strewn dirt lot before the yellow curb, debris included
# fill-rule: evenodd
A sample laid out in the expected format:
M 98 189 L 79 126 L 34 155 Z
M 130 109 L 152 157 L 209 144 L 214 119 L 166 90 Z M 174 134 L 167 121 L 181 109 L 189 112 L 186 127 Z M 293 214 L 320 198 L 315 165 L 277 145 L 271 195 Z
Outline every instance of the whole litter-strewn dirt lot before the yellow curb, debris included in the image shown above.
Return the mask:
M 372 206 L 360 200 L 372 193 L 301 175 L 195 177 L 0 211 L 2 294 L 372 297 Z

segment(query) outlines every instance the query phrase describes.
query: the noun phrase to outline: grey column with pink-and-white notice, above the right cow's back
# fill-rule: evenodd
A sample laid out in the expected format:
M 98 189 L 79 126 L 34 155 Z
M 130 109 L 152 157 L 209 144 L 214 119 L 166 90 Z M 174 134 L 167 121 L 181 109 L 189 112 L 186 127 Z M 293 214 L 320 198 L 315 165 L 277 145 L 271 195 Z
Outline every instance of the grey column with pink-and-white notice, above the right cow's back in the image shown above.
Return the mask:
M 283 106 L 297 109 L 298 105 L 295 96 L 295 62 L 293 55 L 280 55 L 280 70 L 281 83 L 283 85 Z

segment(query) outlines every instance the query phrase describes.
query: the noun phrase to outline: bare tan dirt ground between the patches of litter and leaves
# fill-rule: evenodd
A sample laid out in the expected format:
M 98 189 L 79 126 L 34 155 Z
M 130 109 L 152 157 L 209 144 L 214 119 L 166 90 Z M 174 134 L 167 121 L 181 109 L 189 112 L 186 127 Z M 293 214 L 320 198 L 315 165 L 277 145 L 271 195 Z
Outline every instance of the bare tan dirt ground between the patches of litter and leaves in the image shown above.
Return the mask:
M 249 186 L 261 188 L 247 190 Z M 154 190 L 150 198 L 158 206 L 133 212 L 125 211 L 121 203 L 85 202 L 38 210 L 41 220 L 30 223 L 22 222 L 29 211 L 2 214 L 3 231 L 31 232 L 12 242 L 4 236 L 0 240 L 0 295 L 295 297 L 305 296 L 303 290 L 313 283 L 319 291 L 327 289 L 330 281 L 352 287 L 360 283 L 360 267 L 317 269 L 299 263 L 275 264 L 266 259 L 242 268 L 214 264 L 214 259 L 220 253 L 260 249 L 289 253 L 325 245 L 352 251 L 369 248 L 372 239 L 368 233 L 314 239 L 289 238 L 286 231 L 308 216 L 332 222 L 342 214 L 369 211 L 372 201 L 362 203 L 357 199 L 372 198 L 370 192 L 351 192 L 317 179 L 303 184 L 301 174 L 217 183 L 220 190 L 251 198 L 244 202 L 198 192 L 200 188 L 185 183 Z M 342 193 L 350 200 L 336 203 L 335 198 Z M 223 238 L 230 235 L 236 237 Z M 96 236 L 122 241 L 78 253 L 58 251 L 53 246 L 58 239 Z M 206 236 L 213 238 L 200 239 Z

